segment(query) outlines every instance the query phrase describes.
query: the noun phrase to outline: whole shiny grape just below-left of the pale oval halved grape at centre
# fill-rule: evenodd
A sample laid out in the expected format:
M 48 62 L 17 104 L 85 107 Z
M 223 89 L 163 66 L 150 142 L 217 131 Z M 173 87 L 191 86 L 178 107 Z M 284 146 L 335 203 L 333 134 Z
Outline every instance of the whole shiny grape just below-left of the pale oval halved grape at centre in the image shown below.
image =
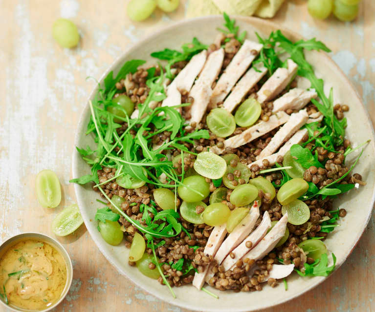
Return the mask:
M 210 185 L 206 179 L 200 175 L 192 175 L 184 179 L 183 184 L 186 186 L 178 187 L 178 195 L 182 200 L 188 203 L 199 202 L 210 194 Z M 200 194 L 196 193 L 198 191 Z

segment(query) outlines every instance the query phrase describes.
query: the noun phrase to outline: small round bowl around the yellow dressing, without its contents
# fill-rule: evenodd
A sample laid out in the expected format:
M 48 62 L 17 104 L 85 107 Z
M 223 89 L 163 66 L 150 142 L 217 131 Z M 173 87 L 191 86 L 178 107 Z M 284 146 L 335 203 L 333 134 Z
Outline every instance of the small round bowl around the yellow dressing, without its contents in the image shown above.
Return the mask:
M 12 307 L 12 306 L 7 305 L 3 301 L 2 298 L 0 298 L 0 306 L 5 307 L 10 311 L 15 311 L 15 312 L 20 312 L 20 311 L 22 311 L 22 312 L 25 312 L 25 311 L 46 312 L 46 311 L 50 311 L 53 308 L 55 308 L 65 298 L 67 292 L 69 291 L 69 288 L 70 288 L 70 285 L 71 285 L 71 282 L 72 282 L 72 279 L 73 279 L 73 265 L 71 263 L 69 254 L 67 253 L 67 251 L 65 250 L 63 245 L 61 245 L 57 240 L 55 240 L 54 238 L 52 238 L 48 235 L 45 235 L 45 234 L 42 234 L 42 233 L 34 233 L 34 232 L 22 233 L 22 234 L 18 234 L 18 235 L 15 235 L 15 236 L 12 236 L 12 237 L 8 238 L 5 242 L 3 242 L 0 245 L 0 257 L 5 252 L 5 250 L 8 249 L 9 246 L 15 245 L 16 243 L 18 243 L 22 240 L 30 239 L 30 238 L 31 239 L 38 239 L 38 240 L 41 240 L 43 242 L 46 242 L 46 243 L 50 244 L 57 251 L 59 251 L 60 254 L 63 256 L 63 258 L 65 260 L 65 263 L 66 263 L 66 283 L 65 283 L 64 290 L 61 293 L 59 300 L 57 300 L 53 305 L 51 305 L 50 307 L 48 307 L 44 310 L 25 310 L 25 309 L 17 308 L 17 307 L 14 307 L 14 306 Z

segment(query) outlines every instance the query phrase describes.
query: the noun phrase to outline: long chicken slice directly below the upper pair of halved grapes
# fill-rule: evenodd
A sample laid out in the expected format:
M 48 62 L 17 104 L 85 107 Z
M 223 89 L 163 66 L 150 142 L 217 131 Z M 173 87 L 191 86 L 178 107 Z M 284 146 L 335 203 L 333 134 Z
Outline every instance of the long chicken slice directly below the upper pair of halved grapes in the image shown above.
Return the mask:
M 224 147 L 219 148 L 218 146 L 212 146 L 210 147 L 210 151 L 216 154 L 221 154 L 226 147 L 237 148 L 239 146 L 243 146 L 244 144 L 257 139 L 262 135 L 265 135 L 278 126 L 285 124 L 288 120 L 289 115 L 286 112 L 277 112 L 276 114 L 271 115 L 268 121 L 260 121 L 258 124 L 251 126 L 241 134 L 226 139 L 223 142 Z

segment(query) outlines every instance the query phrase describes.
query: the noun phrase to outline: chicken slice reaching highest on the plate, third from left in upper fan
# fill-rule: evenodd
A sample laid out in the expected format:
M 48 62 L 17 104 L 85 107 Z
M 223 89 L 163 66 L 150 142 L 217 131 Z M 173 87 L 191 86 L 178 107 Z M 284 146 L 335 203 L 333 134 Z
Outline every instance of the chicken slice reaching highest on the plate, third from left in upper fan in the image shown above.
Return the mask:
M 257 42 L 245 40 L 240 50 L 225 68 L 212 92 L 210 107 L 215 108 L 228 95 L 234 84 L 241 78 L 246 69 L 254 61 L 263 45 Z

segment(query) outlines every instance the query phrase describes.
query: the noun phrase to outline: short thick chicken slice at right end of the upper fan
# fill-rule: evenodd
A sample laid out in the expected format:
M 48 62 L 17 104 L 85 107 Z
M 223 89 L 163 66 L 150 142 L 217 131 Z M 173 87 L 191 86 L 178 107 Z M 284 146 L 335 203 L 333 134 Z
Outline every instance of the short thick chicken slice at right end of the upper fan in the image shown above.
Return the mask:
M 287 110 L 289 108 L 300 110 L 304 108 L 311 99 L 315 99 L 318 95 L 315 91 L 304 90 L 300 88 L 291 89 L 289 92 L 273 101 L 273 112 Z

